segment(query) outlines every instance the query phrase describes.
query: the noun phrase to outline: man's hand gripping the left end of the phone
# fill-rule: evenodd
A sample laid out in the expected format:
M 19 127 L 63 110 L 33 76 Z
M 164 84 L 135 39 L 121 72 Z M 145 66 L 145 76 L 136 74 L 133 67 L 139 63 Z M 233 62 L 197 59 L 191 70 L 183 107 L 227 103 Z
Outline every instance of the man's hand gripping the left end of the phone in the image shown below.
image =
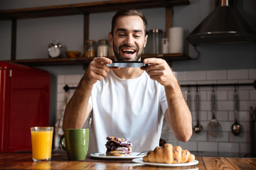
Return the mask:
M 106 64 L 111 63 L 112 60 L 107 57 L 95 57 L 92 62 L 90 62 L 83 78 L 88 84 L 95 84 L 97 80 L 102 80 L 103 77 L 107 77 L 107 73 L 110 72 L 110 69 L 119 69 L 118 67 L 107 67 Z

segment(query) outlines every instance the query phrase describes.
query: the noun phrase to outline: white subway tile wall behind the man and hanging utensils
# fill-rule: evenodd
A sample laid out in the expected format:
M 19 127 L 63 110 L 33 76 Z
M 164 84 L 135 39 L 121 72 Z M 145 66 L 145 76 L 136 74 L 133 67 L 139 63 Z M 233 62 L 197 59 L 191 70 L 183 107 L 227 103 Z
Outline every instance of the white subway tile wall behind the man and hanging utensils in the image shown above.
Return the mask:
M 256 69 L 235 69 L 235 70 L 207 70 L 193 72 L 174 72 L 181 85 L 186 84 L 238 84 L 252 83 L 256 79 Z M 77 86 L 82 74 L 80 75 L 59 75 L 58 94 L 57 94 L 57 114 L 63 111 L 66 101 L 65 85 Z M 181 87 L 183 96 L 186 99 L 188 87 Z M 190 87 L 191 91 L 191 114 L 193 125 L 196 125 L 196 87 Z M 164 122 L 161 138 L 173 145 L 194 152 L 230 152 L 239 154 L 250 153 L 250 106 L 256 108 L 256 90 L 253 86 L 238 86 L 239 112 L 238 121 L 242 125 L 242 132 L 235 136 L 231 132 L 231 126 L 235 123 L 234 113 L 234 91 L 235 86 L 215 87 L 216 98 L 216 119 L 220 123 L 220 135 L 212 137 L 208 135 L 207 126 L 212 119 L 211 94 L 213 87 L 201 86 L 198 88 L 200 94 L 199 120 L 203 126 L 203 131 L 193 134 L 188 142 L 177 141 L 172 134 L 169 126 Z

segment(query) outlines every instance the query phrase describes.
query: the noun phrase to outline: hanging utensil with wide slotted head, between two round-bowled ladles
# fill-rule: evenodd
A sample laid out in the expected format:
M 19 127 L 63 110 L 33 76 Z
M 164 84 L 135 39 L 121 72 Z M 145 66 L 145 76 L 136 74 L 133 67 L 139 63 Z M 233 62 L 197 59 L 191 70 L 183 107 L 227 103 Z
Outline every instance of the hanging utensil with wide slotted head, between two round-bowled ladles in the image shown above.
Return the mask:
M 213 94 L 211 96 L 211 103 L 212 103 L 213 118 L 212 118 L 212 120 L 210 120 L 210 123 L 207 126 L 207 130 L 208 130 L 208 135 L 216 137 L 216 136 L 220 135 L 220 124 L 218 123 L 218 120 L 216 120 L 216 118 L 215 118 L 216 103 L 215 103 L 214 86 L 213 86 Z

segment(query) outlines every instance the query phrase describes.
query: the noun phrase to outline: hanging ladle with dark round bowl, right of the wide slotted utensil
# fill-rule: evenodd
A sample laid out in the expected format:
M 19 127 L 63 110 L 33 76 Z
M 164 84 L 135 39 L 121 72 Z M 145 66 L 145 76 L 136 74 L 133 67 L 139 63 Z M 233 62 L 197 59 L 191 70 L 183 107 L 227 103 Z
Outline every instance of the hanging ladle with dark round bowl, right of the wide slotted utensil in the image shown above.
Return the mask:
M 235 105 L 235 123 L 233 123 L 233 125 L 231 126 L 231 130 L 233 132 L 233 135 L 238 136 L 240 135 L 240 132 L 242 131 L 242 125 L 240 125 L 238 123 L 238 106 L 239 106 L 239 102 L 238 102 L 238 92 L 235 86 L 235 94 L 234 94 L 234 105 Z

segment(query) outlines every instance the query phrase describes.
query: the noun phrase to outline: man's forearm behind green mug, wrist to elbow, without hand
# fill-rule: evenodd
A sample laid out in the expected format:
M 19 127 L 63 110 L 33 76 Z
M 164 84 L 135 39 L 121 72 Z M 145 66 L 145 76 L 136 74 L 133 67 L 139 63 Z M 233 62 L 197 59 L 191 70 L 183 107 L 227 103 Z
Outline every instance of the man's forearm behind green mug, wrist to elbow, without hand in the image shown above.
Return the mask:
M 63 130 L 82 128 L 91 110 L 88 104 L 91 91 L 92 85 L 86 84 L 85 81 L 81 80 L 65 108 Z

